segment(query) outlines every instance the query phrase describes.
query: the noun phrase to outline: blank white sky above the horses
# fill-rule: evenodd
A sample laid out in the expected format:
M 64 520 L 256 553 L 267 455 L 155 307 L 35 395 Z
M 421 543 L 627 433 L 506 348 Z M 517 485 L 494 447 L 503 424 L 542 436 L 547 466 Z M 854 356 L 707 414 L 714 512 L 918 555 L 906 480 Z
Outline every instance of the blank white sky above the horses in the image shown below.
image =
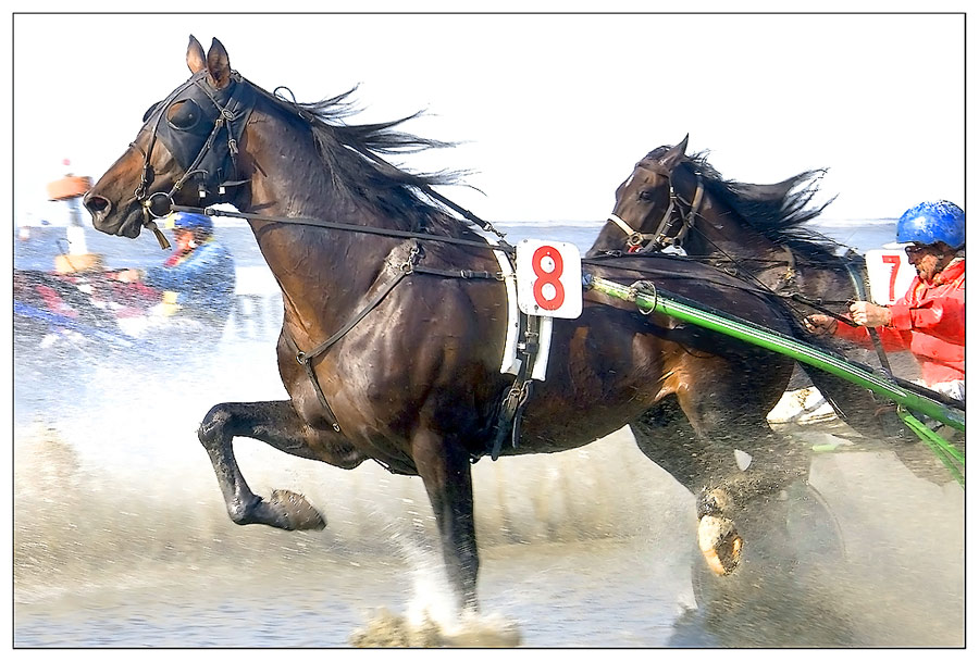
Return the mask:
M 964 204 L 962 15 L 12 20 L 15 220 L 51 208 L 51 179 L 98 178 L 123 152 L 144 111 L 189 76 L 190 34 L 206 49 L 218 37 L 245 77 L 299 101 L 360 84 L 355 121 L 426 110 L 406 128 L 466 145 L 407 164 L 474 171 L 468 182 L 485 195 L 446 192 L 490 221 L 603 220 L 635 161 L 687 133 L 690 150 L 710 150 L 728 178 L 829 167 L 828 218 Z

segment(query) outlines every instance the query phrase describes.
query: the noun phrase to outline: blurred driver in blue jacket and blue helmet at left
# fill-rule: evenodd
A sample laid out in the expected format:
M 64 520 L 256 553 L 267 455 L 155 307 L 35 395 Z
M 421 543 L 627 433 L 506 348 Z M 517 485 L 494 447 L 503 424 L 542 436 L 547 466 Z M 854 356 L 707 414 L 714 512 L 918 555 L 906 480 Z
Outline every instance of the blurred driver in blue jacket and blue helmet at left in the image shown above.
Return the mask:
M 162 290 L 163 310 L 179 320 L 222 328 L 234 304 L 235 263 L 214 237 L 214 223 L 205 214 L 176 212 L 172 224 L 174 250 L 160 266 L 125 270 L 117 278 Z

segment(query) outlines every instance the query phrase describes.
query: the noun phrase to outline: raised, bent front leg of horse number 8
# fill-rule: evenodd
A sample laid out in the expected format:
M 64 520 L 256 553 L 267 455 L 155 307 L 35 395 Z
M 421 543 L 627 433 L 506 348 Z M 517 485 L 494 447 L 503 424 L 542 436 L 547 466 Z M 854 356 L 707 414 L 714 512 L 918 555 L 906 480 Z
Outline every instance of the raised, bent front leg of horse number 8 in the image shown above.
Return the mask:
M 205 416 L 197 437 L 208 451 L 227 514 L 235 524 L 268 524 L 286 530 L 321 529 L 326 524 L 302 495 L 273 490 L 255 495 L 235 460 L 234 437 L 251 437 L 283 452 L 352 469 L 363 461 L 338 435 L 308 426 L 287 400 L 225 402 Z

